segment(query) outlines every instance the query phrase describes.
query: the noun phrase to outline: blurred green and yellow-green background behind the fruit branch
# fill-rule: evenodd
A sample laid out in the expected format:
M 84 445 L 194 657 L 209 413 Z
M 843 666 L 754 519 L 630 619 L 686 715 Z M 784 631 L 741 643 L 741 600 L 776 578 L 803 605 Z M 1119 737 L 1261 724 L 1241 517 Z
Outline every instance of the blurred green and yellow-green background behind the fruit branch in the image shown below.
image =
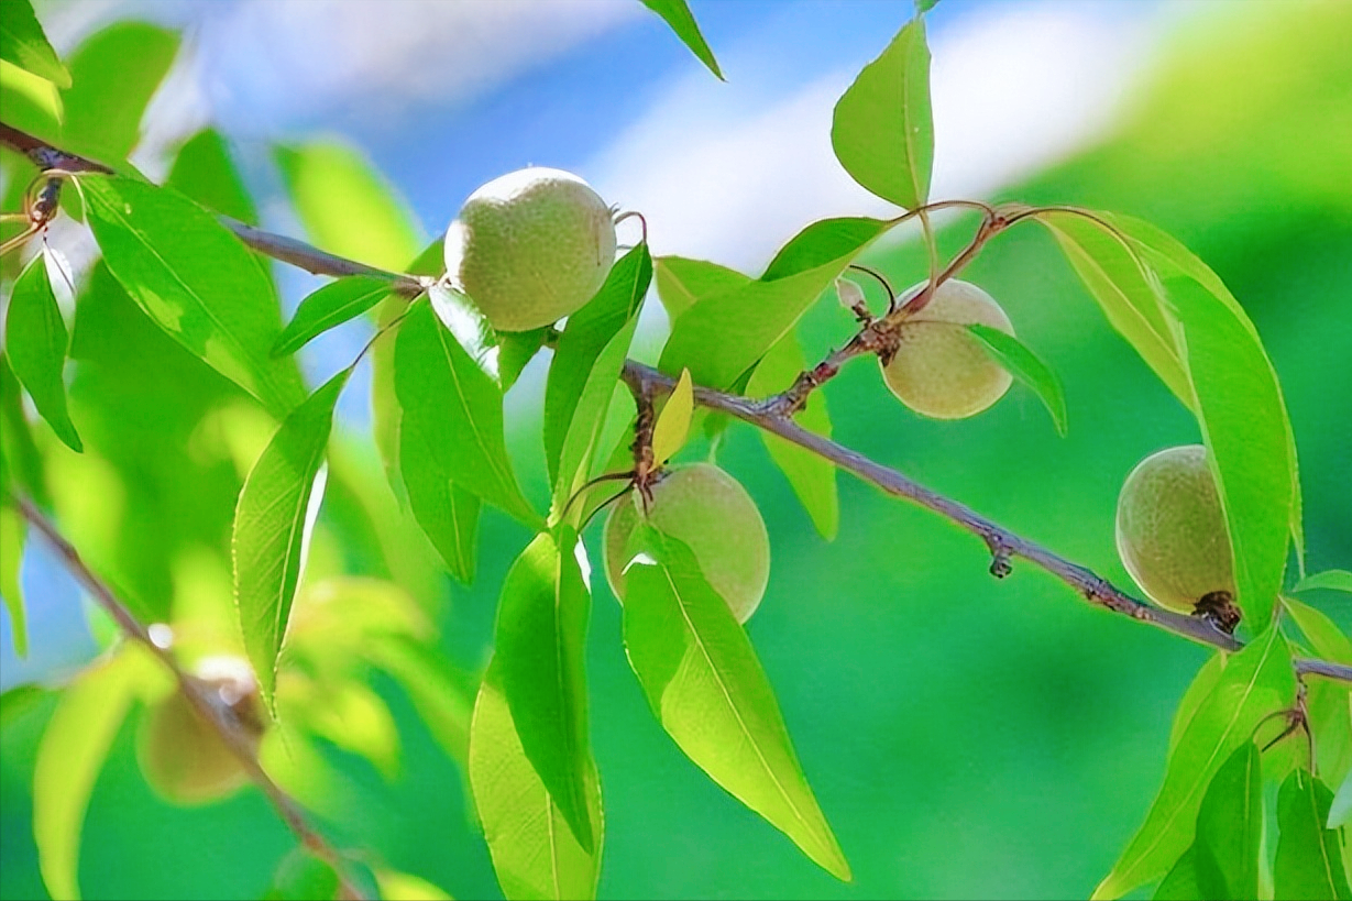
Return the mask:
M 1352 563 L 1349 46 L 1352 4 L 1338 0 L 1199 18 L 1174 37 L 1110 139 L 1000 195 L 1146 218 L 1225 279 L 1286 392 L 1311 571 Z M 964 239 L 949 229 L 944 245 Z M 914 244 L 871 258 L 899 285 L 923 272 Z M 998 239 L 965 277 L 1000 299 L 1060 373 L 1069 437 L 1057 438 L 1018 386 L 972 421 L 918 419 L 875 365 L 856 361 L 826 388 L 836 438 L 1129 587 L 1113 547 L 1121 480 L 1148 453 L 1198 441 L 1195 425 L 1037 226 Z M 810 357 L 848 333 L 846 317 L 821 304 L 804 323 Z M 538 437 L 515 441 L 541 499 Z M 996 582 L 979 541 L 846 476 L 840 537 L 827 544 L 746 428 L 731 429 L 719 461 L 769 526 L 771 586 L 748 628 L 854 882 L 814 867 L 681 756 L 648 710 L 618 606 L 598 580 L 588 675 L 606 801 L 600 896 L 1087 896 L 1144 817 L 1174 706 L 1207 652 L 1091 609 L 1030 565 Z M 443 643 L 469 670 L 487 660 L 496 591 L 527 538 L 488 513 L 476 584 L 445 588 Z M 587 541 L 595 559 L 599 524 Z M 1345 601 L 1310 599 L 1352 628 Z M 345 774 L 330 832 L 454 897 L 496 897 L 461 777 L 392 683 L 375 687 L 396 714 L 403 764 L 385 783 L 330 748 Z M 51 706 L 0 739 L 4 898 L 46 897 L 30 783 Z M 132 745 L 124 728 L 95 789 L 85 896 L 260 896 L 293 847 L 262 797 L 166 806 L 141 779 Z

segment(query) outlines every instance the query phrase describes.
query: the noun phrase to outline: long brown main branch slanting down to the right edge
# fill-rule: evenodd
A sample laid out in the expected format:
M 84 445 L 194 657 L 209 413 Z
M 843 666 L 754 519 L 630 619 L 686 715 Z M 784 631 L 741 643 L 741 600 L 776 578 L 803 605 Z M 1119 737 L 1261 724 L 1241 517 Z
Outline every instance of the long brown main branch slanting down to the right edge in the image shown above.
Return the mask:
M 5 127 L 5 130 L 0 131 L 0 143 L 8 143 L 5 137 L 8 131 L 14 130 Z M 1005 216 L 1002 216 L 998 211 L 991 211 L 988 214 L 987 225 L 983 225 L 983 231 L 990 227 L 988 223 L 991 222 L 991 216 L 996 222 L 1005 222 Z M 243 223 L 235 222 L 228 216 L 222 216 L 222 222 L 226 227 L 230 227 L 241 241 L 260 253 L 274 256 L 279 260 L 301 267 L 315 275 L 352 275 L 352 267 L 361 267 L 358 262 L 335 257 L 300 241 L 283 238 L 260 229 L 245 226 Z M 979 233 L 979 237 L 980 234 L 982 233 Z M 973 244 L 975 242 L 976 239 L 973 239 Z M 283 248 L 285 256 L 281 256 L 283 250 L 280 249 Z M 959 254 L 960 258 L 964 256 L 967 256 L 967 252 Z M 955 262 L 957 262 L 957 260 L 955 260 Z M 369 269 L 362 271 L 369 272 Z M 400 276 L 393 273 L 384 275 L 400 279 Z M 422 281 L 416 277 L 403 276 L 403 279 L 406 279 L 406 281 L 400 283 L 403 285 L 402 290 L 412 291 L 415 284 L 419 285 L 419 291 L 422 290 Z M 654 394 L 665 394 L 669 392 L 676 384 L 675 379 L 671 376 L 633 360 L 627 360 L 625 363 L 623 379 L 635 392 L 652 391 Z M 864 482 L 882 488 L 884 492 L 927 507 L 929 510 L 933 510 L 934 513 L 938 513 L 946 519 L 967 529 L 972 534 L 982 538 L 986 542 L 986 547 L 990 548 L 992 557 L 991 572 L 996 576 L 1003 576 L 1009 572 L 1009 561 L 1013 557 L 1021 557 L 1061 579 L 1090 603 L 1114 613 L 1121 613 L 1137 620 L 1138 622 L 1148 622 L 1156 628 L 1191 639 L 1192 641 L 1220 648 L 1221 651 L 1233 652 L 1242 647 L 1237 639 L 1217 629 L 1209 620 L 1183 616 L 1152 606 L 1144 601 L 1138 601 L 1113 586 L 1107 579 L 1094 574 L 1091 570 L 1072 563 L 1033 541 L 1014 534 L 969 507 L 911 480 L 896 469 L 875 463 L 861 453 L 808 432 L 794 422 L 794 419 L 783 410 L 783 406 L 776 405 L 775 398 L 771 398 L 769 400 L 753 400 L 740 395 L 696 387 L 695 402 L 711 410 L 722 410 L 723 413 L 729 413 L 758 429 L 777 434 L 779 437 L 815 453 L 823 460 L 829 460 L 838 468 L 853 473 Z M 1343 682 L 1352 682 L 1352 667 L 1326 660 L 1298 659 L 1295 660 L 1295 671 L 1299 675 L 1320 675 Z

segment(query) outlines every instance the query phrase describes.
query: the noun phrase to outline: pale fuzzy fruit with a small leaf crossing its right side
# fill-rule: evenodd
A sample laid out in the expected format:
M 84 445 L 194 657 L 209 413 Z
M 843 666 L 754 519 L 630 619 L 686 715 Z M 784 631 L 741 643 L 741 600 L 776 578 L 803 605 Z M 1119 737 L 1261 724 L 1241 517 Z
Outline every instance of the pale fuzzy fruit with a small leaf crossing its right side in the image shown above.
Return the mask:
M 910 300 L 926 284 L 917 284 L 898 303 Z M 949 279 L 898 329 L 900 344 L 883 365 L 883 380 L 898 400 L 934 419 L 961 419 L 1005 396 L 1013 376 L 964 327 L 968 325 L 1014 334 L 1009 317 L 991 295 L 968 281 Z

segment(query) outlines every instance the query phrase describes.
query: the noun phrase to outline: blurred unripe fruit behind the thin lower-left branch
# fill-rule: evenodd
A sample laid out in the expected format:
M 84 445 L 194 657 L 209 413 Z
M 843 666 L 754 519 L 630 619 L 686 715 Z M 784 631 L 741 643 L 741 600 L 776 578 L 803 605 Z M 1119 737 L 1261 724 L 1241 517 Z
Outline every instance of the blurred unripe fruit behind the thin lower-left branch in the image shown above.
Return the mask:
M 234 656 L 207 657 L 193 672 L 257 743 L 264 726 L 258 683 L 249 664 Z M 239 759 L 181 691 L 157 703 L 141 721 L 137 760 L 150 787 L 173 804 L 219 801 L 249 781 Z

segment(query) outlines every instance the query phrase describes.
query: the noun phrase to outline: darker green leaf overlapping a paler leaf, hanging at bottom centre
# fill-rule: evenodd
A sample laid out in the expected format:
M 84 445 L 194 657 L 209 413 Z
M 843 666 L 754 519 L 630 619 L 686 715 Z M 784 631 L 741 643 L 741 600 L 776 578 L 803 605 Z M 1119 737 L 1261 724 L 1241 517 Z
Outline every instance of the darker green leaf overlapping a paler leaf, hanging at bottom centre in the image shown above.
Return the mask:
M 591 597 L 573 556 L 577 533 L 541 533 L 522 552 L 498 601 L 493 666 L 527 759 L 572 828 L 595 850 L 587 804 L 592 768 L 587 739 L 584 655 Z

